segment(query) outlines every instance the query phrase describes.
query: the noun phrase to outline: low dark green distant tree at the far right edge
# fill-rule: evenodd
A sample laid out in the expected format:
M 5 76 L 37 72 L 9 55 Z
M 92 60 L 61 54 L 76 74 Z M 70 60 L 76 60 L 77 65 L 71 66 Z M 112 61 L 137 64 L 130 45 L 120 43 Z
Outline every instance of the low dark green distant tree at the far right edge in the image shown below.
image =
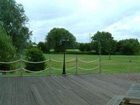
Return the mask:
M 123 55 L 135 55 L 140 51 L 140 43 L 137 39 L 120 40 L 117 43 L 117 51 Z

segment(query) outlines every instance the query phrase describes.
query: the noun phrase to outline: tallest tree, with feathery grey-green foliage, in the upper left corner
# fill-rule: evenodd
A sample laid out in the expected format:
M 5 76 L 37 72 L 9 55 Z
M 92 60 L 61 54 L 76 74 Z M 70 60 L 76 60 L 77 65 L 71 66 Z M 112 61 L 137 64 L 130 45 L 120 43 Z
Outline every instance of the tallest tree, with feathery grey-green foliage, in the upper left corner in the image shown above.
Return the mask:
M 27 21 L 21 4 L 15 0 L 0 0 L 0 22 L 18 52 L 24 49 L 31 34 L 26 27 Z

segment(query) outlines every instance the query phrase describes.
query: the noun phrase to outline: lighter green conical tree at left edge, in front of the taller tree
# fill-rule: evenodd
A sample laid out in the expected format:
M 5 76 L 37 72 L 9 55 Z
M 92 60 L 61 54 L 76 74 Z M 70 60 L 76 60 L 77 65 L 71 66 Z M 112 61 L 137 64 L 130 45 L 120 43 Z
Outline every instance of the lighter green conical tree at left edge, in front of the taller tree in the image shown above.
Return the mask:
M 10 36 L 8 36 L 4 28 L 0 25 L 0 61 L 9 62 L 13 61 L 16 56 L 16 49 L 12 44 Z M 10 70 L 12 65 L 10 64 L 1 64 L 0 70 Z M 5 73 L 4 73 L 5 74 Z

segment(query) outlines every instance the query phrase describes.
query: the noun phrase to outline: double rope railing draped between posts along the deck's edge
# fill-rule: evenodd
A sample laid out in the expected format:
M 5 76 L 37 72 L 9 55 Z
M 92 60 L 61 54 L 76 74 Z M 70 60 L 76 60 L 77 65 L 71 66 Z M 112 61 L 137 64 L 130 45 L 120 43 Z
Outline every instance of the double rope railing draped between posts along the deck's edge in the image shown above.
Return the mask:
M 95 68 L 82 68 L 80 66 L 80 63 L 85 63 L 85 64 L 90 64 L 90 63 L 95 63 L 95 62 L 98 62 L 99 59 L 95 59 L 95 60 L 92 60 L 92 61 L 85 61 L 85 60 L 82 60 L 82 59 L 79 59 L 78 57 L 76 58 L 72 58 L 72 59 L 69 59 L 69 60 L 66 60 L 66 63 L 69 63 L 69 62 L 74 62 L 75 65 L 70 65 L 68 67 L 66 67 L 66 69 L 68 71 L 70 70 L 76 70 L 75 72 L 78 74 L 79 70 L 82 70 L 82 71 L 91 71 L 91 70 L 96 70 L 96 69 L 99 69 L 99 63 L 97 63 L 97 66 Z M 62 66 L 61 68 L 57 68 L 57 67 L 54 67 L 52 64 L 53 62 L 56 62 L 56 63 L 63 63 L 63 61 L 59 61 L 59 60 L 55 60 L 53 58 L 49 58 L 49 59 L 46 59 L 44 61 L 38 61 L 38 62 L 34 62 L 34 61 L 28 61 L 28 60 L 25 60 L 25 59 L 19 59 L 19 60 L 15 60 L 15 61 L 10 61 L 10 62 L 0 62 L 0 64 L 12 64 L 12 63 L 18 63 L 20 62 L 21 63 L 21 67 L 19 67 L 18 69 L 15 69 L 15 70 L 0 70 L 0 73 L 11 73 L 11 72 L 16 72 L 16 71 L 21 71 L 21 72 L 29 72 L 29 73 L 43 73 L 44 71 L 50 71 L 51 72 L 54 72 L 55 70 L 56 71 L 62 71 Z M 32 70 L 27 70 L 25 69 L 23 66 L 22 63 L 33 63 L 33 64 L 38 64 L 38 63 L 46 63 L 47 62 L 47 65 L 48 67 L 44 70 L 39 70 L 39 71 L 32 71 Z M 51 71 L 52 70 L 52 71 Z M 49 72 L 48 72 L 49 73 Z

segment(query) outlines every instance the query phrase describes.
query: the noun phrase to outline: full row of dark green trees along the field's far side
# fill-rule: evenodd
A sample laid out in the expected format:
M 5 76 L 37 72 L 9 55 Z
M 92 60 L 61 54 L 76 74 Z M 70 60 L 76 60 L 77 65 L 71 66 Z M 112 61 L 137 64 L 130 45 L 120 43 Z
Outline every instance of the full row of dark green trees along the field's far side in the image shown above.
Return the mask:
M 67 40 L 67 41 L 66 41 Z M 91 37 L 89 43 L 78 43 L 72 33 L 64 28 L 53 28 L 47 35 L 45 42 L 39 42 L 38 48 L 43 52 L 49 52 L 54 49 L 54 52 L 63 52 L 65 41 L 65 47 L 67 49 L 79 49 L 81 52 L 92 52 L 94 54 L 111 55 L 137 55 L 140 51 L 140 43 L 138 39 L 123 39 L 114 40 L 112 34 L 109 32 L 96 32 Z

